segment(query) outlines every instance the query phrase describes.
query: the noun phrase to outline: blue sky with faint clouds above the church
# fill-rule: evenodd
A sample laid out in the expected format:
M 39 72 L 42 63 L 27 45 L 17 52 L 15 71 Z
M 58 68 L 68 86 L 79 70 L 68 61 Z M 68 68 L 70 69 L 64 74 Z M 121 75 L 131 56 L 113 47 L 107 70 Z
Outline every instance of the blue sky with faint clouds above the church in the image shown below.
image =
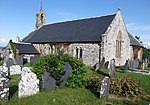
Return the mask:
M 0 1 L 0 46 L 35 29 L 40 4 L 41 0 Z M 128 31 L 150 44 L 150 0 L 43 0 L 47 24 L 113 14 L 118 7 Z

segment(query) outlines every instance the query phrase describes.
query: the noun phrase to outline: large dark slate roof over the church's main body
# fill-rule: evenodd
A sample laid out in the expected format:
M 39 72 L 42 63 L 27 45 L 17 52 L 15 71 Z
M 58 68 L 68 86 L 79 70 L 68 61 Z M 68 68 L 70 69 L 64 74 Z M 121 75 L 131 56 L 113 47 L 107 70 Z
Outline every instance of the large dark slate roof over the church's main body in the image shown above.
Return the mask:
M 116 14 L 44 25 L 22 41 L 26 43 L 95 43 L 101 41 Z

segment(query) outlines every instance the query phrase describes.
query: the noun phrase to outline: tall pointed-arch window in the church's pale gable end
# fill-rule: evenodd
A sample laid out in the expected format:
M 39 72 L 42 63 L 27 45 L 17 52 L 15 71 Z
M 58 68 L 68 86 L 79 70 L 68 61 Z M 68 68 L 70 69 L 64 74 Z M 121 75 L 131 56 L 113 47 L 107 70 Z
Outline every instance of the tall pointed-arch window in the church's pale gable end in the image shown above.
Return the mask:
M 122 32 L 118 32 L 118 36 L 116 39 L 116 57 L 120 58 L 121 57 L 121 46 L 122 46 Z

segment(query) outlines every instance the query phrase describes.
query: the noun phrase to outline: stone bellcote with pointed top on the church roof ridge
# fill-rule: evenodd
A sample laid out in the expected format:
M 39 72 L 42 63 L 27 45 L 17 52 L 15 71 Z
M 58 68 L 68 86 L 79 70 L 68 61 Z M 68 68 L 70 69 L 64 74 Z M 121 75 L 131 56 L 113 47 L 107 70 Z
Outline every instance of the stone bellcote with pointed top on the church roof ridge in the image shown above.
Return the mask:
M 35 27 L 36 27 L 36 29 L 39 29 L 44 24 L 46 24 L 46 14 L 44 13 L 44 11 L 42 9 L 42 5 L 41 5 L 41 9 L 40 9 L 39 13 L 36 14 Z

